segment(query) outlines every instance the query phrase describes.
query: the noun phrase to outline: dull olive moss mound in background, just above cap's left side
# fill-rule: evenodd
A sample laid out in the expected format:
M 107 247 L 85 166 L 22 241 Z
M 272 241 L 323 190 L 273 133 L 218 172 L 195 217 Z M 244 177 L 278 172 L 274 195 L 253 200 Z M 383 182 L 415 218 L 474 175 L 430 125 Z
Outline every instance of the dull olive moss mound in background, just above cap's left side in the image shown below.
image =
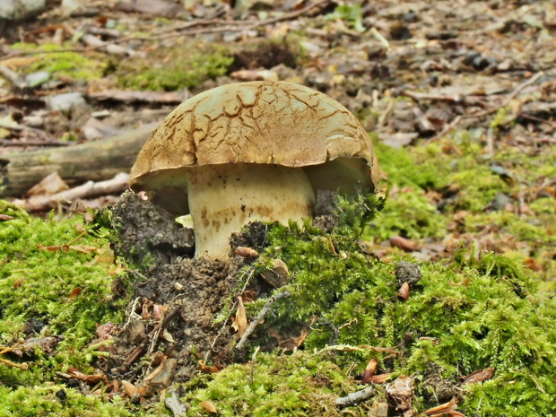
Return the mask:
M 176 91 L 193 88 L 228 72 L 233 58 L 218 45 L 181 43 L 156 48 L 141 59 L 136 56 L 118 64 L 118 83 L 134 90 Z

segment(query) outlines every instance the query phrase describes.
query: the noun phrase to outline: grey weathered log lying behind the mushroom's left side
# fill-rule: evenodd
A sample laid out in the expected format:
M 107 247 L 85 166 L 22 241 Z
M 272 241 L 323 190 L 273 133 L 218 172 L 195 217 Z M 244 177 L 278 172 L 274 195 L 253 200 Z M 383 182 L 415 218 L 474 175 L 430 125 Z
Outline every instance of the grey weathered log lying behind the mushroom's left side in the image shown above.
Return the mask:
M 155 125 L 95 142 L 0 157 L 0 198 L 21 197 L 53 172 L 73 187 L 127 172 Z

